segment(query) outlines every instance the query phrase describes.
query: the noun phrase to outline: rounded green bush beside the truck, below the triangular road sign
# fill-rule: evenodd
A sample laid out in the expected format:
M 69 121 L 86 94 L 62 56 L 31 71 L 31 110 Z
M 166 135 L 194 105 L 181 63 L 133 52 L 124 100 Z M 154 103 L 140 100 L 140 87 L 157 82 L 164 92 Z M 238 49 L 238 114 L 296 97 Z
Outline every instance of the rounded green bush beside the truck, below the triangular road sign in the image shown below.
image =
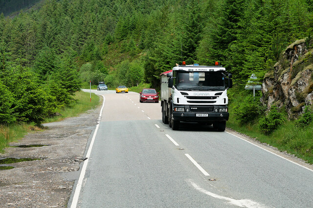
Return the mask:
M 234 107 L 234 114 L 241 124 L 253 122 L 262 113 L 262 104 L 258 97 L 247 95 Z

